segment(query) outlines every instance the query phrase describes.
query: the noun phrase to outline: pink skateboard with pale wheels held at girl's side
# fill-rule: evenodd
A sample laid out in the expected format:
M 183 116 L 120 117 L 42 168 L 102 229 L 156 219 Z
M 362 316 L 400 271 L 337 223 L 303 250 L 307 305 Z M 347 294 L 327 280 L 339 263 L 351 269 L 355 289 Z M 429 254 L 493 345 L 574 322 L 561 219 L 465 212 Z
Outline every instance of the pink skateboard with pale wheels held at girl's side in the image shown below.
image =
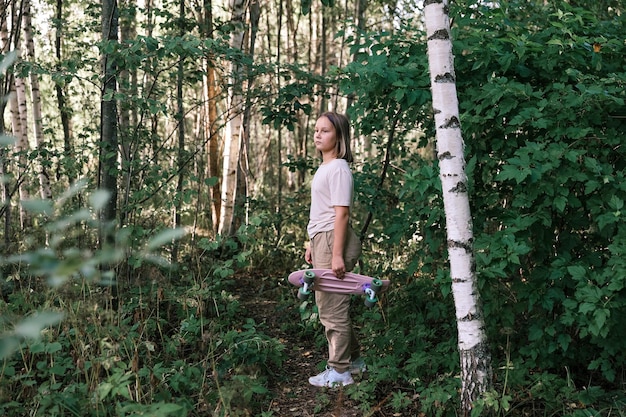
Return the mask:
M 378 302 L 377 295 L 389 286 L 389 280 L 346 272 L 343 279 L 330 269 L 301 269 L 289 274 L 289 282 L 298 289 L 298 299 L 306 300 L 313 291 L 337 294 L 365 295 L 365 305 L 371 308 Z

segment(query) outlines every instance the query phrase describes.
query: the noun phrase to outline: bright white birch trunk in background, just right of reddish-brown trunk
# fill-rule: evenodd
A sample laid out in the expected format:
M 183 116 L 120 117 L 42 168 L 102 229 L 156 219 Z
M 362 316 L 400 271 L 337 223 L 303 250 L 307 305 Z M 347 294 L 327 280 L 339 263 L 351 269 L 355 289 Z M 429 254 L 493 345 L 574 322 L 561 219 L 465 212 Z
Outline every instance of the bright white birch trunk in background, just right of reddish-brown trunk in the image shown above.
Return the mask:
M 231 0 L 232 22 L 234 29 L 230 38 L 230 46 L 243 49 L 244 38 L 244 0 Z M 226 125 L 222 164 L 222 207 L 218 233 L 232 235 L 235 232 L 235 201 L 237 199 L 237 181 L 239 173 L 239 158 L 243 137 L 243 74 L 239 63 L 234 60 L 229 80 L 229 122 Z

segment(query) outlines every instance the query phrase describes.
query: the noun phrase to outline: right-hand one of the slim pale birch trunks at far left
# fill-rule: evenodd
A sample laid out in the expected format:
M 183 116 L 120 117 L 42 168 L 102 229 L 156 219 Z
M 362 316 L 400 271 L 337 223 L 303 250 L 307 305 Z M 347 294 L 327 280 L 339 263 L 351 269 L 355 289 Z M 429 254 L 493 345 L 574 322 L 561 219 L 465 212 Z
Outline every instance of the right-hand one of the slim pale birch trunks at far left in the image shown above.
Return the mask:
M 32 18 L 30 14 L 30 0 L 24 1 L 24 12 L 22 14 L 22 25 L 24 29 L 24 40 L 26 41 L 26 53 L 31 62 L 35 62 L 35 43 L 33 41 Z M 43 123 L 41 112 L 41 91 L 39 90 L 39 78 L 35 71 L 30 71 L 30 92 L 33 104 L 33 126 L 35 130 L 35 142 L 39 150 L 39 193 L 41 198 L 46 200 L 52 197 L 50 190 L 50 177 L 46 166 L 49 161 L 46 160 L 47 152 L 44 149 L 45 143 L 43 138 Z

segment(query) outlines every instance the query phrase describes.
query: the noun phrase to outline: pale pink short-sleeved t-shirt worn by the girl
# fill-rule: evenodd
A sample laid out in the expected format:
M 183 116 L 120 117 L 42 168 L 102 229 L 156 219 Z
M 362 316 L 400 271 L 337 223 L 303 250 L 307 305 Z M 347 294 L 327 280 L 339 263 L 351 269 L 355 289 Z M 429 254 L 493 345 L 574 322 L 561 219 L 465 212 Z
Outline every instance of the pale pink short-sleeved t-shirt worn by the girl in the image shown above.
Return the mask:
M 311 182 L 311 212 L 307 232 L 312 239 L 319 232 L 333 230 L 335 206 L 352 206 L 352 172 L 345 159 L 320 165 Z

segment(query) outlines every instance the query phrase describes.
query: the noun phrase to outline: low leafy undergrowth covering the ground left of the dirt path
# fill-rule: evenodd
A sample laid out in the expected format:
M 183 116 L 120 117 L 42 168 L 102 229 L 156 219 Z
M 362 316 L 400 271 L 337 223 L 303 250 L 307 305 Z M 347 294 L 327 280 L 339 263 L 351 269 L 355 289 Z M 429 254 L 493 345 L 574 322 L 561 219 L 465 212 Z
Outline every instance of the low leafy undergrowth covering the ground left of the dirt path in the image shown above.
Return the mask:
M 146 239 L 134 252 L 143 260 L 131 267 L 136 285 L 121 288 L 118 282 L 124 297 L 114 309 L 98 271 L 102 263 L 124 262 L 126 239 L 119 237 L 120 250 L 74 256 L 76 229 L 96 226 L 97 218 L 88 214 L 106 202 L 95 192 L 91 210 L 65 213 L 63 202 L 81 191 L 77 186 L 54 204 L 27 203 L 42 216 L 53 244 L 38 249 L 33 242 L 31 251 L 4 265 L 16 270 L 11 277 L 20 286 L 0 301 L 0 414 L 31 409 L 41 416 L 188 416 L 211 410 L 234 416 L 258 409 L 283 346 L 242 316 L 229 292 L 235 270 L 248 262 L 250 252 L 243 248 L 253 242 L 253 229 L 201 242 L 200 259 L 209 267 L 187 272 L 181 286 L 165 279 L 169 267 L 162 259 L 146 262 L 158 259 L 154 253 L 181 233 Z M 54 277 L 47 280 L 54 286 L 36 284 L 33 293 L 28 285 L 39 277 Z M 53 309 L 19 318 L 46 306 Z

